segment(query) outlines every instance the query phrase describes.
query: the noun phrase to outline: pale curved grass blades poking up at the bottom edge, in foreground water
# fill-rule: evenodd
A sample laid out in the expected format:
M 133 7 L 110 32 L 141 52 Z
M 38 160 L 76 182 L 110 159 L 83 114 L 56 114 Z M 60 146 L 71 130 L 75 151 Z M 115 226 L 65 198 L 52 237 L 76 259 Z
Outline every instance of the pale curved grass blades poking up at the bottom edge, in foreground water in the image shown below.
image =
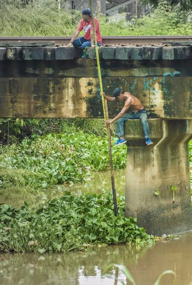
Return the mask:
M 107 271 L 108 269 L 112 268 L 112 267 L 115 267 L 115 268 L 118 268 L 122 273 L 123 275 L 126 277 L 126 279 L 128 281 L 130 281 L 133 285 L 136 285 L 136 282 L 132 276 L 132 274 L 130 273 L 130 271 L 124 266 L 124 265 L 121 265 L 121 264 L 110 264 L 108 267 L 106 267 L 105 271 Z M 165 274 L 173 274 L 175 276 L 175 273 L 172 271 L 172 270 L 166 270 L 166 271 L 163 271 L 159 277 L 157 278 L 157 280 L 155 281 L 154 285 L 160 285 L 160 281 L 161 281 L 161 278 L 165 275 Z M 111 277 L 111 275 L 106 275 L 106 276 L 109 276 Z M 125 285 L 125 283 L 123 281 L 121 281 L 121 284 Z

